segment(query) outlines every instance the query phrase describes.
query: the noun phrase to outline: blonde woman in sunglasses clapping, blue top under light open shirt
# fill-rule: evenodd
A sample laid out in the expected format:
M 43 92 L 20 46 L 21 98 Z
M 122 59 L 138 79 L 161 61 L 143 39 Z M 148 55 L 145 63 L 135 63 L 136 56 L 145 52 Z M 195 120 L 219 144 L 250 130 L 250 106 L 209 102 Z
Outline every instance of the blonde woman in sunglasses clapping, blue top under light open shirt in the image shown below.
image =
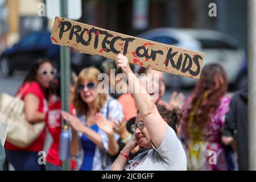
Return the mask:
M 102 92 L 97 85 L 100 71 L 90 67 L 83 69 L 77 82 L 73 104 L 76 117 L 67 112 L 62 116 L 68 125 L 72 127 L 72 140 L 70 152 L 77 156 L 78 169 L 81 171 L 108 170 L 112 164 L 110 155 L 118 152 L 116 141 L 118 135 L 105 133 L 96 125 L 96 117 L 108 119 L 113 117 L 115 121 L 123 117 L 122 107 L 117 100 Z

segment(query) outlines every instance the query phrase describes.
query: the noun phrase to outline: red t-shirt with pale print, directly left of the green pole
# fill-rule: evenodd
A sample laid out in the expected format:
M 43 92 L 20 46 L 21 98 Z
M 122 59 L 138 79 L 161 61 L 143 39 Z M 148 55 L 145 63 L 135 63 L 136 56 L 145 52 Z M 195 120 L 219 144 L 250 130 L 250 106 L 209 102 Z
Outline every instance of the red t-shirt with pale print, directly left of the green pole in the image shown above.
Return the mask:
M 71 106 L 71 108 L 73 108 Z M 59 144 L 61 133 L 61 101 L 57 101 L 55 104 L 49 106 L 49 111 L 46 114 L 46 127 L 52 136 L 52 144 L 49 148 L 46 156 L 46 162 L 54 164 L 55 166 L 61 166 L 61 160 L 59 159 Z M 71 169 L 75 168 L 75 162 L 71 160 Z

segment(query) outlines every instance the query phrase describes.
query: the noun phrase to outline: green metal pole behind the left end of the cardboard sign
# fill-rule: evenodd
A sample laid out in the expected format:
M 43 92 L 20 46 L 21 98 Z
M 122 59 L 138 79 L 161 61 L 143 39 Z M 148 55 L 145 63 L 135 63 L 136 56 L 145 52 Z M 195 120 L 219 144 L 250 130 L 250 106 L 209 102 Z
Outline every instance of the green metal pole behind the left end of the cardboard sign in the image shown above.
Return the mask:
M 68 18 L 68 0 L 60 1 L 60 15 L 63 18 Z M 70 64 L 70 48 L 60 46 L 60 76 L 61 76 L 61 109 L 69 112 L 69 82 L 71 76 Z M 62 128 L 64 129 L 67 123 L 62 119 Z M 62 161 L 63 171 L 70 170 L 69 160 Z

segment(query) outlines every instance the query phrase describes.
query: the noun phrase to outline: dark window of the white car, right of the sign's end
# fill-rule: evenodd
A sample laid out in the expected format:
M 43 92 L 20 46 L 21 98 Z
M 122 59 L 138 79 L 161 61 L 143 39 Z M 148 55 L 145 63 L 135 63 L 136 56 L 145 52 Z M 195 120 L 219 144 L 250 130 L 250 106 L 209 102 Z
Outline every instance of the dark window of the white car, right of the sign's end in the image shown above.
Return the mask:
M 203 49 L 237 49 L 236 46 L 225 43 L 221 40 L 199 39 Z

